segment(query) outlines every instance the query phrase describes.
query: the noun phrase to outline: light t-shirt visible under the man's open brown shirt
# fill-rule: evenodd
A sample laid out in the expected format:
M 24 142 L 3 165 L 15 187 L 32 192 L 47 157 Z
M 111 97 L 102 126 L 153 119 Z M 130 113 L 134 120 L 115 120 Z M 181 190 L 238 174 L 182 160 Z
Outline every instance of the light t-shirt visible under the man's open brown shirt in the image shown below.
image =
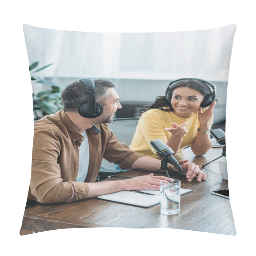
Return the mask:
M 82 141 L 80 147 L 79 147 L 79 170 L 77 174 L 76 181 L 78 182 L 84 182 L 87 173 L 88 173 L 88 167 L 89 167 L 89 143 L 87 134 L 84 131 L 84 141 Z

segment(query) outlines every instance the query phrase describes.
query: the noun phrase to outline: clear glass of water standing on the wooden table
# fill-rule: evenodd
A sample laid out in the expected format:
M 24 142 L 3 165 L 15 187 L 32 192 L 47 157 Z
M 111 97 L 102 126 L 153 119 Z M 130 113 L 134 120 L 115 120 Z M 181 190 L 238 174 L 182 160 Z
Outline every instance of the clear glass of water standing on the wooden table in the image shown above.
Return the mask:
M 161 213 L 165 215 L 180 212 L 180 180 L 161 180 Z

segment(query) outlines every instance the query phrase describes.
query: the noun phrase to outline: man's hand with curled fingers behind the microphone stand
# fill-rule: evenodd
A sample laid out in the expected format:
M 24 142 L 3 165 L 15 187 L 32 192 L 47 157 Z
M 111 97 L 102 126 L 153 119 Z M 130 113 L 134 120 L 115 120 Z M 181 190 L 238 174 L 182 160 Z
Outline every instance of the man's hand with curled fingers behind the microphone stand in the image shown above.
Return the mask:
M 196 181 L 201 182 L 202 180 L 206 180 L 206 174 L 202 172 L 198 165 L 194 163 L 188 163 L 189 160 L 180 160 L 179 164 L 183 170 L 181 174 L 186 175 L 188 182 L 192 181 L 196 176 Z M 179 172 L 174 165 L 172 165 L 172 171 Z

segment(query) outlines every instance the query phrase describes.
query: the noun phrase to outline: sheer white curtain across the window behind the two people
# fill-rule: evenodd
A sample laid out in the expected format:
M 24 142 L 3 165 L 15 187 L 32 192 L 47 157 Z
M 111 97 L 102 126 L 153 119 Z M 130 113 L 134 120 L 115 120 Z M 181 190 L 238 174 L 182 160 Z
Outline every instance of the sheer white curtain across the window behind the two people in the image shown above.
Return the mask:
M 200 31 L 91 33 L 24 25 L 29 63 L 50 77 L 227 81 L 234 25 Z

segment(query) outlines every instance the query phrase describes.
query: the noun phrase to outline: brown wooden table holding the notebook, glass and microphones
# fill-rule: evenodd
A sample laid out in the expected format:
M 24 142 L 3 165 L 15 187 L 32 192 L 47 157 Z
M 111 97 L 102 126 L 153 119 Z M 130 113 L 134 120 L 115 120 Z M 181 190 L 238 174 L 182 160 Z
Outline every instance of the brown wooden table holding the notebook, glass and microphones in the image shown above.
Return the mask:
M 198 165 L 215 159 L 222 148 L 212 148 L 205 156 L 195 156 L 190 148 L 177 158 L 189 159 Z M 214 190 L 228 189 L 228 181 L 204 168 L 207 180 L 187 182 L 180 176 L 181 187 L 193 192 L 181 196 L 180 213 L 160 214 L 160 204 L 144 208 L 115 203 L 97 198 L 72 203 L 38 204 L 25 210 L 22 229 L 46 231 L 61 228 L 124 227 L 124 228 L 178 228 L 235 235 L 229 199 L 212 195 Z M 130 170 L 118 176 L 139 176 L 150 172 Z M 163 173 L 156 173 L 156 175 Z M 111 180 L 120 178 L 112 177 Z

